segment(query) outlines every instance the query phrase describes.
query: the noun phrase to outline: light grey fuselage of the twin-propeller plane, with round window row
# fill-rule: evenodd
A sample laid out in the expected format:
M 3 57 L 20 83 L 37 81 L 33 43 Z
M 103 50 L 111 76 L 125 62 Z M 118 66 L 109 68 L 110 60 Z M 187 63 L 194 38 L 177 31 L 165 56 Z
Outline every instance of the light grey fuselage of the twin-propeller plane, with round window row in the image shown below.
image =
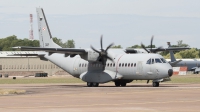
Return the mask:
M 87 71 L 103 70 L 101 63 L 88 62 L 79 55 L 71 58 L 70 56 L 64 57 L 64 54 L 54 53 L 51 56 L 45 55 L 45 58 L 78 78 Z M 150 58 L 160 59 L 163 57 L 158 54 L 118 54 L 114 57 L 114 62 L 107 60 L 105 70 L 113 72 L 110 74 L 111 77 L 116 77 L 117 74 L 117 78 L 129 80 L 156 80 L 169 77 L 168 70 L 172 69 L 171 65 L 168 63 L 147 64 Z M 101 75 L 98 77 L 100 77 L 97 80 L 98 83 L 115 80 L 115 78 L 101 80 Z

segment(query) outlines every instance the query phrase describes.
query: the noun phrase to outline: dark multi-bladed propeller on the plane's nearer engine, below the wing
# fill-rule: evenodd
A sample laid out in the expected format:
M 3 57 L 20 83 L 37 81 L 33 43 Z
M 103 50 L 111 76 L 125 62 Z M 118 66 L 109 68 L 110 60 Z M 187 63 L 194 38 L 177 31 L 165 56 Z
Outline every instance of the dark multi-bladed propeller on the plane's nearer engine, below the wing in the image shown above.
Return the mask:
M 102 40 L 103 40 L 103 36 L 101 36 L 101 40 L 100 40 L 100 44 L 101 44 L 101 49 L 100 49 L 100 51 L 96 50 L 93 46 L 91 46 L 91 49 L 94 50 L 95 52 L 99 53 L 99 57 L 98 57 L 97 60 L 98 60 L 98 61 L 101 61 L 102 64 L 105 65 L 105 61 L 106 61 L 107 59 L 113 61 L 113 59 L 112 59 L 111 57 L 108 56 L 108 52 L 107 52 L 107 51 L 108 51 L 108 49 L 109 49 L 110 47 L 112 47 L 114 44 L 111 43 L 111 44 L 106 48 L 106 50 L 104 50 L 104 49 L 103 49 L 103 42 L 102 42 Z

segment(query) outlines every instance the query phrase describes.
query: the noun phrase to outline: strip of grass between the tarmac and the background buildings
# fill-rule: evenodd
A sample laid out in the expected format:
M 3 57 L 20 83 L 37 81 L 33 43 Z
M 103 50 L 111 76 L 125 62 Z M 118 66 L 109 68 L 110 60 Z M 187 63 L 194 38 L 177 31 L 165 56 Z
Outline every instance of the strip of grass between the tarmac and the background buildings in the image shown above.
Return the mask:
M 37 77 L 37 78 L 1 78 L 0 84 L 49 84 L 49 83 L 85 83 L 74 77 Z M 137 80 L 132 83 L 146 83 L 146 80 Z M 200 83 L 200 75 L 172 76 L 166 83 Z

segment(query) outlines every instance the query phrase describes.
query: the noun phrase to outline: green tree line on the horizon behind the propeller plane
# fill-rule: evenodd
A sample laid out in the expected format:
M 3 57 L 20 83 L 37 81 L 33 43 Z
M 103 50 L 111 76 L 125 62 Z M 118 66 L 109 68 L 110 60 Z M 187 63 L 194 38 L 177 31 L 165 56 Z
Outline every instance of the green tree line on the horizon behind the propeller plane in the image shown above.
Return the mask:
M 75 41 L 73 39 L 63 42 L 62 39 L 53 37 L 53 41 L 63 48 L 75 48 Z M 39 47 L 39 40 L 29 40 L 26 38 L 18 39 L 17 36 L 15 35 L 0 39 L 1 51 L 16 51 L 17 49 L 12 49 L 12 47 L 16 47 L 16 46 Z M 177 41 L 177 45 L 171 45 L 171 46 L 172 47 L 190 47 L 188 44 L 183 43 L 182 40 Z M 152 45 L 152 47 L 156 48 L 155 45 Z M 122 48 L 122 46 L 115 45 L 115 46 L 112 46 L 112 48 Z M 140 45 L 133 45 L 129 48 L 142 48 L 142 47 Z M 146 46 L 146 48 L 150 48 L 150 45 Z M 197 49 L 197 48 L 191 48 L 189 50 L 183 50 L 183 51 L 174 51 L 174 53 L 175 53 L 175 57 L 178 59 L 200 58 L 200 49 Z M 160 52 L 160 54 L 166 59 L 170 58 L 168 51 Z

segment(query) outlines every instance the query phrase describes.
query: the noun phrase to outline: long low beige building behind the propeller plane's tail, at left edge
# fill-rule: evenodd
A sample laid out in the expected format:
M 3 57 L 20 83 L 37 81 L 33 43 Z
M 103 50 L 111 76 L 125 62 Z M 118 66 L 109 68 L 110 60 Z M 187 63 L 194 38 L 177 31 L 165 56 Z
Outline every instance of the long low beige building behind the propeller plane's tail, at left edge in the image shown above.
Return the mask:
M 37 51 L 1 51 L 0 74 L 9 76 L 34 76 L 36 73 L 48 75 L 69 75 L 50 61 L 37 56 L 11 56 L 13 54 L 36 54 Z

